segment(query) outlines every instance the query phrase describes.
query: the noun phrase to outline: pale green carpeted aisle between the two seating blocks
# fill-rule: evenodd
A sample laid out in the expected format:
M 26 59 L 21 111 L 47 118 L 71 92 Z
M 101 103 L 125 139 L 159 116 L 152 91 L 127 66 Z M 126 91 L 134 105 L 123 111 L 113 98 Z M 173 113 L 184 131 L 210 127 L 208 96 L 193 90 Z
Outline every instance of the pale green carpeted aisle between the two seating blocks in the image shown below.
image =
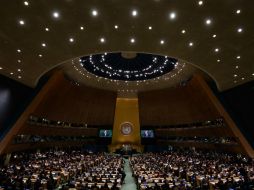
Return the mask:
M 125 176 L 124 184 L 122 185 L 121 190 L 136 190 L 137 185 L 135 183 L 135 179 L 132 177 L 132 170 L 130 167 L 129 160 L 124 158 L 124 161 L 125 161 L 124 172 L 126 176 Z

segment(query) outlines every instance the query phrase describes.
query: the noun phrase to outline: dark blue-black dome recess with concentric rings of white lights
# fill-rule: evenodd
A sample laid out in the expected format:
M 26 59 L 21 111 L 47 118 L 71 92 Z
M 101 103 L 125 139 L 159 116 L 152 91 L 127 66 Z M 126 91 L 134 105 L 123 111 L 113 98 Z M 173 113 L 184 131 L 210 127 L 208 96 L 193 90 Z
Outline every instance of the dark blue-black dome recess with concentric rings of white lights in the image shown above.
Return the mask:
M 178 66 L 175 58 L 146 53 L 132 53 L 128 58 L 122 53 L 95 54 L 81 57 L 79 62 L 86 71 L 98 77 L 119 81 L 157 78 Z

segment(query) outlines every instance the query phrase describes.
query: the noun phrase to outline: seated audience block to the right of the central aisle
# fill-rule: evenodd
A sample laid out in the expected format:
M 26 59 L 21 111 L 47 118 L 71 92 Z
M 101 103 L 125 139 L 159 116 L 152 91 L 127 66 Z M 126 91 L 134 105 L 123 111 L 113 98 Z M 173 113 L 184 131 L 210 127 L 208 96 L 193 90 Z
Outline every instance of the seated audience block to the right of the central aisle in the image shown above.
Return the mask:
M 130 158 L 140 189 L 252 189 L 254 161 L 240 155 L 190 150 Z

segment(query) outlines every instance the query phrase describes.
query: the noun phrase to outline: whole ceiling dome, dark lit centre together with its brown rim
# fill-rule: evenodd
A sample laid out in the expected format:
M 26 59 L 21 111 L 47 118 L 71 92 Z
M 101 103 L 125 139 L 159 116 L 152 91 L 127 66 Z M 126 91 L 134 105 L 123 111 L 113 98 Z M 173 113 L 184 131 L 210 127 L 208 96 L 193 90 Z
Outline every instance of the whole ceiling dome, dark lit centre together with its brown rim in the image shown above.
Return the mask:
M 125 97 L 185 84 L 194 74 L 205 74 L 180 59 L 135 52 L 75 58 L 61 64 L 60 69 L 76 85 L 113 90 Z

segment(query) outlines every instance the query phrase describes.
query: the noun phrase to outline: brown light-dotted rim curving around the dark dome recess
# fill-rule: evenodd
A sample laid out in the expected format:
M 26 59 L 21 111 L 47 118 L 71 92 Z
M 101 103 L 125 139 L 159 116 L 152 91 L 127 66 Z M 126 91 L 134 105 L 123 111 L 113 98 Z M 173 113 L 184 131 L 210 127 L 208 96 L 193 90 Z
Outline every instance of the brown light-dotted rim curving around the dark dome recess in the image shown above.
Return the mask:
M 105 53 L 96 54 L 96 55 L 105 55 Z M 109 53 L 107 53 L 109 54 Z M 135 58 L 135 54 L 138 55 L 138 52 L 124 52 L 121 53 L 125 59 Z M 129 55 L 127 55 L 129 54 Z M 159 57 L 161 55 L 149 54 L 152 57 Z M 94 56 L 94 55 L 92 55 Z M 90 56 L 83 56 L 83 58 L 89 58 Z M 161 56 L 166 58 L 165 56 Z M 170 57 L 170 56 L 169 56 Z M 121 58 L 122 59 L 122 58 Z M 177 64 L 174 65 L 174 68 L 165 74 L 162 74 L 158 77 L 146 80 L 116 80 L 98 76 L 97 74 L 91 73 L 86 70 L 82 65 L 82 59 L 80 57 L 73 58 L 64 62 L 62 65 L 62 70 L 65 73 L 65 76 L 72 81 L 73 84 L 80 86 L 91 86 L 94 88 L 105 89 L 110 91 L 117 91 L 119 94 L 124 96 L 127 94 L 136 94 L 136 92 L 141 91 L 150 91 L 155 89 L 163 89 L 174 87 L 182 84 L 184 81 L 188 81 L 194 73 L 202 72 L 192 64 L 177 59 Z M 118 62 L 115 62 L 118 63 Z M 128 97 L 128 96 L 125 96 Z

